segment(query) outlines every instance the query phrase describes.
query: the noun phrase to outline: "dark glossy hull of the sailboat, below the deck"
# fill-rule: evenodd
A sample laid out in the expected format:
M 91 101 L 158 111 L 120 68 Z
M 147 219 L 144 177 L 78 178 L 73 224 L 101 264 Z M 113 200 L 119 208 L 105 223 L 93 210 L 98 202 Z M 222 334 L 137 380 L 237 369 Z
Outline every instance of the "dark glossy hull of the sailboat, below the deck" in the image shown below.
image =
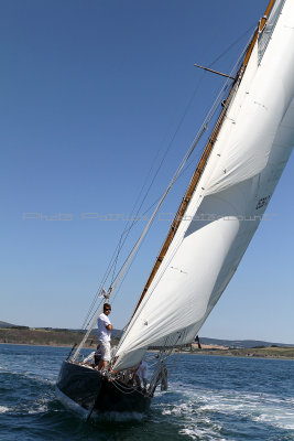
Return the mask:
M 70 362 L 64 362 L 57 389 L 86 411 L 145 412 L 151 397 L 115 380 L 99 372 Z

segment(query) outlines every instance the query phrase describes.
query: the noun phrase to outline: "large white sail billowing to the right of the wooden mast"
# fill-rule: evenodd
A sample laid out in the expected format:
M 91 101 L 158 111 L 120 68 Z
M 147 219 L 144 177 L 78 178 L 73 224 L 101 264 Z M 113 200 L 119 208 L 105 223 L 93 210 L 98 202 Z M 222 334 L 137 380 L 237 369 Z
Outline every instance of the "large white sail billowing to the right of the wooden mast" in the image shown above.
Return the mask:
M 233 276 L 294 144 L 294 2 L 277 0 L 172 244 L 117 349 L 189 343 Z M 266 33 L 268 32 L 268 33 Z M 266 39 L 266 41 L 265 41 Z

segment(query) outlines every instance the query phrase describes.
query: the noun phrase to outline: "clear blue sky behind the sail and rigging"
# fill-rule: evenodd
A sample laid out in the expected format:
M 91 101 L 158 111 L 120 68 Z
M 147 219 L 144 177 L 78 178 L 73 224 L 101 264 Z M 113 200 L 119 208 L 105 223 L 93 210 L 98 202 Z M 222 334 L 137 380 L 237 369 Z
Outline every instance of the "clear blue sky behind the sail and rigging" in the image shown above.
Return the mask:
M 176 132 L 145 206 L 159 197 L 222 84 L 194 63 L 225 53 L 213 67 L 229 73 L 266 3 L 1 2 L 0 320 L 81 325 L 126 226 L 102 216 L 128 216 Z M 293 170 L 292 157 L 271 220 L 200 335 L 294 343 Z M 163 211 L 176 209 L 190 172 Z M 167 228 L 156 220 L 144 241 L 113 303 L 115 327 L 126 324 Z

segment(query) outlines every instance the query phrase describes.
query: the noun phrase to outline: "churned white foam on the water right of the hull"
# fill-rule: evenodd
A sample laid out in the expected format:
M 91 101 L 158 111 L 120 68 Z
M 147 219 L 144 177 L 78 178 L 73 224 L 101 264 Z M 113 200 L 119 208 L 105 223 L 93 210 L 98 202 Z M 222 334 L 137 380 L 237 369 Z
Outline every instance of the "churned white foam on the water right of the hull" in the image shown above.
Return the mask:
M 182 384 L 173 384 L 173 391 L 181 394 L 181 402 L 177 406 L 165 406 L 162 415 L 179 416 L 185 428 L 181 433 L 197 439 L 199 430 L 202 435 L 219 438 L 219 429 L 215 427 L 211 432 L 209 413 L 225 413 L 244 417 L 254 422 L 263 422 L 269 426 L 293 430 L 294 429 L 294 400 L 292 398 L 280 398 L 270 394 L 242 392 L 238 390 L 207 390 L 192 386 L 184 389 Z M 202 426 L 209 426 L 208 433 Z M 197 427 L 198 423 L 198 427 Z M 195 427 L 194 427 L 195 424 Z M 209 439 L 209 438 L 207 438 Z

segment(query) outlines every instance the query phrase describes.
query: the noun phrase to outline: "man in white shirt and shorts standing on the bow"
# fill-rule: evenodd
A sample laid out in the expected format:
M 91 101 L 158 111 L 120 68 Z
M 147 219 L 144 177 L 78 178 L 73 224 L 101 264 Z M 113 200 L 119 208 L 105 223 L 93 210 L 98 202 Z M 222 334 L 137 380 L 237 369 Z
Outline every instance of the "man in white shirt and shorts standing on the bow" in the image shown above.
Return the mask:
M 98 364 L 98 370 L 105 369 L 110 362 L 110 336 L 112 331 L 112 324 L 108 318 L 111 312 L 111 305 L 109 303 L 104 304 L 104 312 L 98 318 L 98 340 L 99 340 L 99 352 L 101 359 Z

